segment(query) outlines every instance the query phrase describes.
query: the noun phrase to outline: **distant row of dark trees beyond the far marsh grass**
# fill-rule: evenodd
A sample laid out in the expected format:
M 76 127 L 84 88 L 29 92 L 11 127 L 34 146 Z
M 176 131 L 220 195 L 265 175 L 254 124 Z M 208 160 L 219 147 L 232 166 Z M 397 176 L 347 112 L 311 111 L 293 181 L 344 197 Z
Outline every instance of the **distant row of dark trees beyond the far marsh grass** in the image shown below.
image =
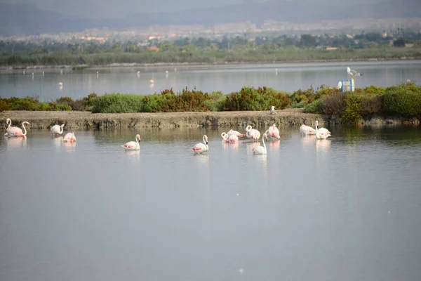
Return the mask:
M 398 34 L 402 36 L 402 34 Z M 141 53 L 149 51 L 151 46 L 156 46 L 159 51 L 175 52 L 189 50 L 256 50 L 263 51 L 276 50 L 295 46 L 298 48 L 315 47 L 337 47 L 337 48 L 370 48 L 373 46 L 389 45 L 393 41 L 394 46 L 405 46 L 406 43 L 414 43 L 421 46 L 420 32 L 407 32 L 405 37 L 391 37 L 382 33 L 368 32 L 356 34 L 353 38 L 347 34 L 330 36 L 328 34 L 315 36 L 312 34 L 302 34 L 300 37 L 282 36 L 259 36 L 250 37 L 248 34 L 236 35 L 222 38 L 206 37 L 182 37 L 175 40 L 149 41 L 106 41 L 104 43 L 95 43 L 94 41 L 75 41 L 72 44 L 52 42 L 48 40 L 40 42 L 25 41 L 0 41 L 0 54 L 11 55 L 13 53 L 25 52 L 27 55 L 46 54 L 51 52 L 66 52 L 73 54 L 81 53 Z

